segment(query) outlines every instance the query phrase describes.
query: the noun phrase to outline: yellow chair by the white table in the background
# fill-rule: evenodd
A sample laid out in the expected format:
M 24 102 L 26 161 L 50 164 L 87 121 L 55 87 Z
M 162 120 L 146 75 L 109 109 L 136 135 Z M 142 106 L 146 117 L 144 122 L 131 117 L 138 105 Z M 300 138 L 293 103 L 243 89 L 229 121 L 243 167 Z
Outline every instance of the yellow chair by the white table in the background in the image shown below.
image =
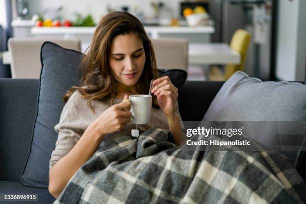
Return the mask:
M 227 80 L 235 71 L 243 71 L 245 55 L 250 42 L 249 32 L 243 29 L 237 29 L 233 34 L 230 47 L 240 54 L 240 64 L 227 64 L 225 66 L 224 78 Z

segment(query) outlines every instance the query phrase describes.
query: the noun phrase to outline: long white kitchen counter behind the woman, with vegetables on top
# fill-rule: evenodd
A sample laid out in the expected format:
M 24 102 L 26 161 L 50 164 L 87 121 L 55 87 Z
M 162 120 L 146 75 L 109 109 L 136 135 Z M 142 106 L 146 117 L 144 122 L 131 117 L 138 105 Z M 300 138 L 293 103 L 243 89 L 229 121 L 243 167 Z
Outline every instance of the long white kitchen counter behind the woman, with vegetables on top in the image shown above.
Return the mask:
M 164 23 L 162 23 L 164 24 Z M 91 42 L 95 27 L 35 27 L 30 20 L 13 20 L 14 37 L 38 37 L 45 39 L 80 39 L 81 51 L 84 51 Z M 214 33 L 213 23 L 207 26 L 144 26 L 148 36 L 157 38 L 184 38 L 189 42 L 210 42 L 210 35 Z

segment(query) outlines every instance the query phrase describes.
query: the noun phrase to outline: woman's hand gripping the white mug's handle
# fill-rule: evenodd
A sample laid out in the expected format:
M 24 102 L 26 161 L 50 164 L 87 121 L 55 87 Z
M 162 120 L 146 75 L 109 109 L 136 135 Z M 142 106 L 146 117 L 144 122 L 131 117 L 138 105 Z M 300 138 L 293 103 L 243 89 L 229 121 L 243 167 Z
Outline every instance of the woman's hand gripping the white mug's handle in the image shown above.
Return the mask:
M 132 116 L 129 111 L 131 103 L 128 100 L 128 95 L 125 94 L 123 101 L 108 107 L 96 120 L 94 120 L 94 128 L 101 135 L 120 131 L 129 121 Z

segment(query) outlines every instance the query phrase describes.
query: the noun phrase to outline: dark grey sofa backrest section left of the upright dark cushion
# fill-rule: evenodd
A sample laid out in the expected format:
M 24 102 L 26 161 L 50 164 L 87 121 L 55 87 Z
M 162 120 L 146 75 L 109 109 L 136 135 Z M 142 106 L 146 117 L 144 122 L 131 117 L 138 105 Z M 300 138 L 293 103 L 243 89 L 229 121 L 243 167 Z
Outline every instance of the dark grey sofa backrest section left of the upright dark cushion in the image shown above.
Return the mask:
M 20 181 L 36 115 L 38 79 L 0 78 L 0 180 Z

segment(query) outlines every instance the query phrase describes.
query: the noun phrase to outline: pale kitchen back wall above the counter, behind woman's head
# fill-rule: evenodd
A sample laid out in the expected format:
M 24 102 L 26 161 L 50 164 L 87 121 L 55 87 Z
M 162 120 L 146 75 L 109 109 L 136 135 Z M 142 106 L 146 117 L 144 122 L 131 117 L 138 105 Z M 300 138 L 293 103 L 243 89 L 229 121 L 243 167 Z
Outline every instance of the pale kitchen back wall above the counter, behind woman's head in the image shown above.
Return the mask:
M 29 0 L 30 12 L 36 13 L 46 9 L 54 9 L 62 6 L 61 15 L 63 19 L 69 18 L 75 12 L 82 15 L 92 14 L 92 17 L 97 22 L 101 16 L 107 13 L 107 5 L 112 8 L 120 9 L 121 6 L 127 5 L 129 12 L 135 13 L 136 10 L 142 10 L 146 16 L 153 15 L 153 9 L 150 6 L 151 2 L 156 0 Z M 180 0 L 164 0 L 164 7 L 161 10 L 161 17 L 177 17 Z

